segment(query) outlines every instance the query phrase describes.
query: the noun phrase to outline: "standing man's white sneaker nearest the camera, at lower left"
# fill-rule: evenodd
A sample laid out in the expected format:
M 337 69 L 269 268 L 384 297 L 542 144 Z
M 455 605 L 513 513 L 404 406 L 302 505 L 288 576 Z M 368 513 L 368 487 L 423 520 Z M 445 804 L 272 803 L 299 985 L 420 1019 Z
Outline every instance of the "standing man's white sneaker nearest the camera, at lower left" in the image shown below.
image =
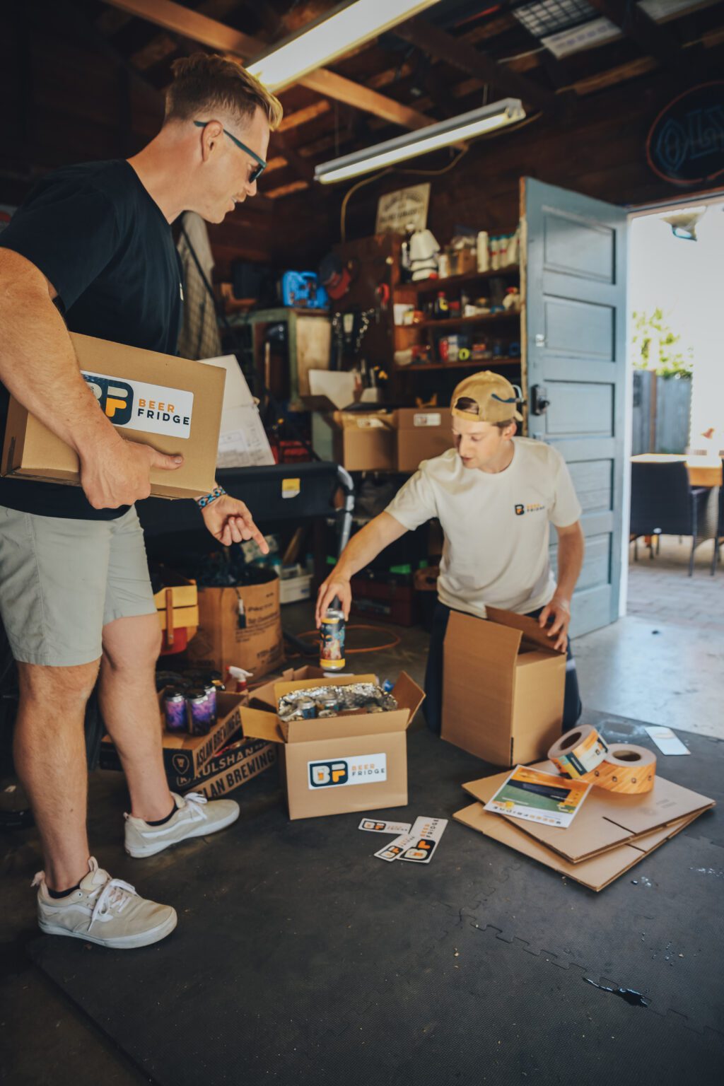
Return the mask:
M 176 910 L 140 897 L 120 879 L 112 879 L 90 857 L 88 874 L 78 889 L 65 897 L 51 897 L 46 872 L 38 871 L 31 885 L 38 887 L 38 925 L 48 935 L 72 935 L 118 950 L 157 943 L 178 923 Z

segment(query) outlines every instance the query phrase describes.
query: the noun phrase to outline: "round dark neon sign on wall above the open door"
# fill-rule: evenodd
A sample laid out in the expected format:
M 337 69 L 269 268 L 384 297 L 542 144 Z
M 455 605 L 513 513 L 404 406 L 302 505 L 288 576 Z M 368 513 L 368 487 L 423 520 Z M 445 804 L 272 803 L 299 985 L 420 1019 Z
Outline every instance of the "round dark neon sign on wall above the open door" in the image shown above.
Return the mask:
M 646 140 L 651 169 L 672 185 L 724 174 L 724 81 L 703 83 L 670 102 Z

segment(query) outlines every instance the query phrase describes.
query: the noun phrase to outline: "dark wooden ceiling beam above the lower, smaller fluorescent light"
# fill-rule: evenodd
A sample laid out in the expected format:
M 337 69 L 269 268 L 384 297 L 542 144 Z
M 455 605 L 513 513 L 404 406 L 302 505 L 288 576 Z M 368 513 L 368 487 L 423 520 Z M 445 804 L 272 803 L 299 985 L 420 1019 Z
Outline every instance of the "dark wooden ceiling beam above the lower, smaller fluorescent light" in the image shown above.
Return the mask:
M 491 83 L 513 98 L 520 98 L 529 105 L 545 113 L 557 113 L 560 102 L 544 87 L 519 75 L 505 64 L 498 64 L 486 53 L 479 52 L 461 38 L 454 38 L 425 18 L 417 16 L 394 28 L 394 33 L 405 41 L 423 49 L 436 60 L 452 67 L 460 68 L 482 83 Z

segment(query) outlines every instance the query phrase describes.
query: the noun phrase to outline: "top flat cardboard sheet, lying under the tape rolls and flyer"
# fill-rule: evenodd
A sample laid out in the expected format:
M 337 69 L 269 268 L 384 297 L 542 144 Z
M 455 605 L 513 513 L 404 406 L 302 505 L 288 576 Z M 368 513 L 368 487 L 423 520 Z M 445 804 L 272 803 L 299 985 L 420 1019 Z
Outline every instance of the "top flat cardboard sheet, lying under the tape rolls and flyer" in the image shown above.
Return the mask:
M 556 772 L 550 761 L 538 762 L 534 768 L 546 773 Z M 496 773 L 479 781 L 469 781 L 462 787 L 481 804 L 486 804 L 507 775 Z M 546 848 L 558 853 L 571 863 L 580 863 L 610 848 L 630 844 L 633 838 L 651 833 L 676 819 L 701 815 L 713 806 L 713 799 L 657 776 L 651 792 L 640 796 L 615 795 L 606 788 L 594 786 L 577 817 L 566 830 L 534 822 L 512 821 L 523 833 Z

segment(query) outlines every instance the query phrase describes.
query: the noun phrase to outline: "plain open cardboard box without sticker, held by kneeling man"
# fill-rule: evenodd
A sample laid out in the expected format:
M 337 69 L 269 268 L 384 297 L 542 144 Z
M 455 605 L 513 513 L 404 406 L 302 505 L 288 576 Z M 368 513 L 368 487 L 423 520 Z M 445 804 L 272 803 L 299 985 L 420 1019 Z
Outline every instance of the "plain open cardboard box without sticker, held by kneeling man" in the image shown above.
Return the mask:
M 494 766 L 547 755 L 561 733 L 566 653 L 535 619 L 452 611 L 443 654 L 444 740 Z

